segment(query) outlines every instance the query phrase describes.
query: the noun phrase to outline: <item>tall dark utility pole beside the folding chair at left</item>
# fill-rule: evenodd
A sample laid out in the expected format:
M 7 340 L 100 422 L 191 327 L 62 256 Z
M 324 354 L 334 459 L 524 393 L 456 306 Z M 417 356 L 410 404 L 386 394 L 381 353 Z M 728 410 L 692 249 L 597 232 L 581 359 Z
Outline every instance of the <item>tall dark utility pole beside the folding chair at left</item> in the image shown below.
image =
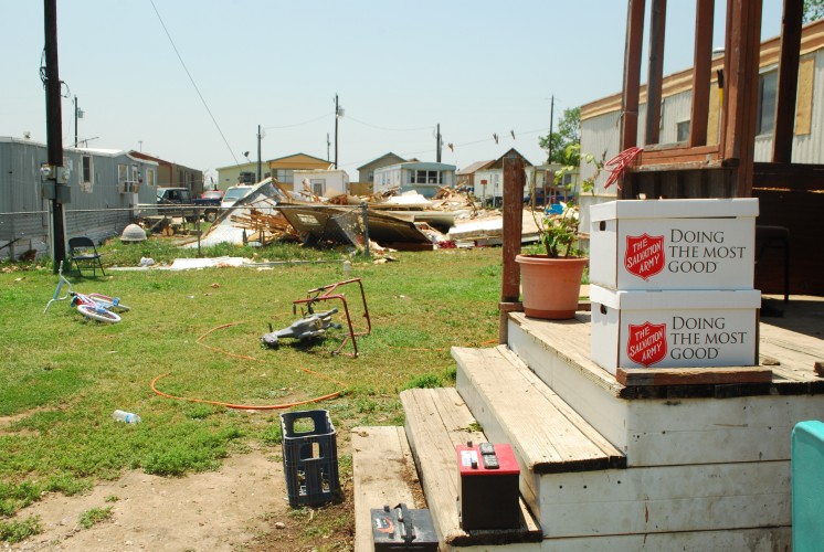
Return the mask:
M 45 17 L 45 128 L 49 150 L 49 170 L 44 192 L 52 208 L 52 259 L 54 273 L 66 258 L 65 220 L 63 203 L 68 203 L 70 188 L 63 173 L 63 115 L 61 113 L 60 71 L 57 68 L 57 0 L 44 0 Z

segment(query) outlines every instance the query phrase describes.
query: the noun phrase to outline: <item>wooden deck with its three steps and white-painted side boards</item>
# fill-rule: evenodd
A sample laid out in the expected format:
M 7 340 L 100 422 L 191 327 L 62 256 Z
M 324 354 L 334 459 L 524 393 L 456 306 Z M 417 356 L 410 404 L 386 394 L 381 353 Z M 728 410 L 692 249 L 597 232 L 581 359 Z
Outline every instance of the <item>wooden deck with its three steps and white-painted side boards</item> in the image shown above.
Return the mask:
M 733 379 L 633 374 L 622 384 L 590 360 L 588 312 L 510 312 L 508 346 L 453 349 L 456 389 L 401 394 L 405 428 L 353 434 L 357 550 L 370 550 L 369 507 L 392 502 L 390 490 L 420 491 L 411 458 L 442 550 L 783 549 L 789 435 L 824 405 L 824 299 L 764 302 L 783 316 L 762 311 L 760 364 L 742 367 L 746 381 L 725 368 L 715 370 Z M 455 444 L 466 440 L 513 445 L 519 530 L 461 529 Z

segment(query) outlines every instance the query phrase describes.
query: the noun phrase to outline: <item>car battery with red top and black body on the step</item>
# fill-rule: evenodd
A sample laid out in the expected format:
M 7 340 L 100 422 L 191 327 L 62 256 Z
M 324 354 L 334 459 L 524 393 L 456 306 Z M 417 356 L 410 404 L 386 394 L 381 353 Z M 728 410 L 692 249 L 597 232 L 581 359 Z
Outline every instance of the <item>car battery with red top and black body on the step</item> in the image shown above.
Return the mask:
M 464 531 L 520 527 L 520 468 L 507 444 L 457 445 L 458 512 Z

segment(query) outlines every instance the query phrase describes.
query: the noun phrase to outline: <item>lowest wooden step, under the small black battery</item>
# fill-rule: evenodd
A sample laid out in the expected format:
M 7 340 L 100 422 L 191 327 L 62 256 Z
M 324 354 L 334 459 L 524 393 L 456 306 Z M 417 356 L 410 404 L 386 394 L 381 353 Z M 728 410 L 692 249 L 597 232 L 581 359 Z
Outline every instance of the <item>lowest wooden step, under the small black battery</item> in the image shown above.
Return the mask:
M 403 427 L 355 427 L 351 432 L 355 550 L 371 552 L 372 508 L 405 503 L 425 508 L 421 481 Z

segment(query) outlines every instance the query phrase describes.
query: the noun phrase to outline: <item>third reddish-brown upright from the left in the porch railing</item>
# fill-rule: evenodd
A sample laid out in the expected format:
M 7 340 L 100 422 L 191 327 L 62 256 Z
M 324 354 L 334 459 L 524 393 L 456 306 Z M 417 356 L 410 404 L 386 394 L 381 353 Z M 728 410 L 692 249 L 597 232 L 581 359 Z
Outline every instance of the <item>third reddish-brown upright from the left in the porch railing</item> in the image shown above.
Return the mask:
M 689 117 L 689 145 L 706 146 L 709 117 L 709 82 L 712 64 L 712 21 L 715 0 L 698 0 L 695 7 L 695 64 L 693 107 Z M 716 132 L 717 129 L 711 129 Z

